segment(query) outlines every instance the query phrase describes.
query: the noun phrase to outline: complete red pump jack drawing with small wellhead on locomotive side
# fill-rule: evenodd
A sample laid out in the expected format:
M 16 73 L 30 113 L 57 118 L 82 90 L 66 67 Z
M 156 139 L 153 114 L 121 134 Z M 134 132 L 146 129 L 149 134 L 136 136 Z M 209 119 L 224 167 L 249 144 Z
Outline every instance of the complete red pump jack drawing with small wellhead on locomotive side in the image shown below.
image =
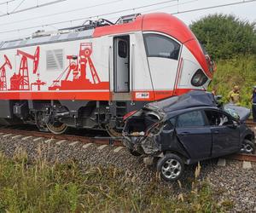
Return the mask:
M 17 50 L 17 55 L 21 56 L 20 60 L 20 69 L 18 74 L 14 74 L 10 78 L 10 89 L 9 90 L 31 90 L 32 86 L 30 85 L 29 79 L 29 68 L 28 68 L 28 59 L 33 61 L 33 69 L 32 74 L 36 74 L 38 72 L 38 65 L 39 65 L 39 56 L 40 56 L 40 48 L 37 47 L 35 54 L 30 55 L 20 49 Z M 32 85 L 37 85 L 38 90 L 40 90 L 40 86 L 44 85 L 39 79 Z

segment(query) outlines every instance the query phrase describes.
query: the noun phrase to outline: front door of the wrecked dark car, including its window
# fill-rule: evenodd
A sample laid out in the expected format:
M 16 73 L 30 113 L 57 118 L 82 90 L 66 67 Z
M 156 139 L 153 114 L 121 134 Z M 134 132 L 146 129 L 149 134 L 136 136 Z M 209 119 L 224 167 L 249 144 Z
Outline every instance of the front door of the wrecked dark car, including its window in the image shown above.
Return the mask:
M 222 111 L 206 110 L 212 132 L 212 157 L 234 153 L 239 147 L 240 130 L 236 122 Z

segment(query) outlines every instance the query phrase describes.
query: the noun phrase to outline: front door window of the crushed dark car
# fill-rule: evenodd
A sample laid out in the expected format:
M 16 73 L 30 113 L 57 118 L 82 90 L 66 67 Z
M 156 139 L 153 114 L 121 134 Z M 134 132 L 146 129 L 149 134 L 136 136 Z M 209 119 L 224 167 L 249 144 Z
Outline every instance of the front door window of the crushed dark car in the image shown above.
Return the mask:
M 232 120 L 222 112 L 207 110 L 206 115 L 211 126 L 224 126 L 233 123 Z

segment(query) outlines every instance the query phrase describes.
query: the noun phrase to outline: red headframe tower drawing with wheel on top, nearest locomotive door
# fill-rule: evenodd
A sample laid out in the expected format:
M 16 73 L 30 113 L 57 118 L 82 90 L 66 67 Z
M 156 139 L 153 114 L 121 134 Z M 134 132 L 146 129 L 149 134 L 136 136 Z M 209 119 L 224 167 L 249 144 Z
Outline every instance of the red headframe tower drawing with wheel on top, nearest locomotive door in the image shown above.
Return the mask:
M 80 43 L 79 56 L 67 55 L 69 65 L 66 70 L 51 84 L 49 90 L 68 89 L 108 89 L 109 83 L 102 82 L 96 72 L 90 56 L 92 55 L 92 43 Z M 86 67 L 90 67 L 92 82 L 87 77 Z M 73 75 L 73 78 L 71 76 Z M 69 80 L 69 78 L 72 80 Z

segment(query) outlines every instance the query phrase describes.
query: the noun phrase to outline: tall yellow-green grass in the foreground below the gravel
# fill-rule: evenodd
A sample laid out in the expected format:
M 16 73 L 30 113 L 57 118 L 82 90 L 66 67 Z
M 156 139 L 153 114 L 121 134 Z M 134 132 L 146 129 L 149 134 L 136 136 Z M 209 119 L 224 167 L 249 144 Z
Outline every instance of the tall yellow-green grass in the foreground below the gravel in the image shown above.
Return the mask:
M 216 199 L 218 193 L 207 181 L 196 179 L 189 190 L 179 182 L 174 192 L 158 178 L 140 186 L 113 166 L 88 165 L 81 170 L 72 161 L 49 164 L 40 155 L 30 161 L 24 152 L 14 158 L 0 154 L 0 212 L 224 212 L 231 208 L 230 201 Z

